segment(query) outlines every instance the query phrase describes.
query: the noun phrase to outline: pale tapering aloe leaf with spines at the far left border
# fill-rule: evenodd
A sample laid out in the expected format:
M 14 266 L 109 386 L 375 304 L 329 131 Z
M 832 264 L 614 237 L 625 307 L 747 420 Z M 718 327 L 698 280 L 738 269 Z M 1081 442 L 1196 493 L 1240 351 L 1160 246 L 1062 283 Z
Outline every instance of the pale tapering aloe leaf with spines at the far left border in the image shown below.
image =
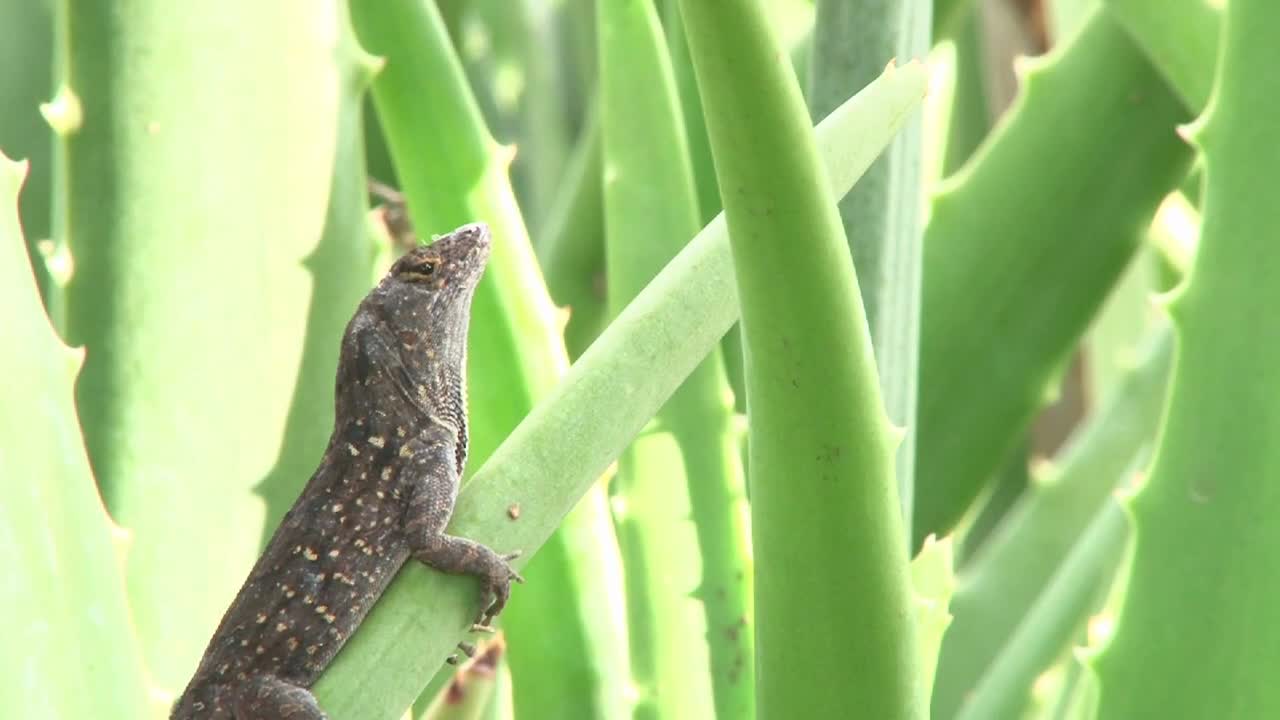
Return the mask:
M 26 165 L 0 154 L 0 707 L 13 717 L 148 716 L 113 529 L 76 423 L 82 354 L 41 306 L 18 223 Z

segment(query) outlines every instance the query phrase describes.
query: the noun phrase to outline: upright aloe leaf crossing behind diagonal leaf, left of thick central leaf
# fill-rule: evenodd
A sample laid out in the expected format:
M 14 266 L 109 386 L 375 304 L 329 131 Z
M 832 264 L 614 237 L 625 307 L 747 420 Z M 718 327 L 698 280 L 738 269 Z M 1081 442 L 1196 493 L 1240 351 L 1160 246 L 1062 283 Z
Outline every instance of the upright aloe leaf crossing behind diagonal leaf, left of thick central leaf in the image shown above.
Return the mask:
M 600 0 L 596 18 L 605 265 L 617 313 L 700 220 L 657 12 L 648 1 Z M 728 393 L 713 351 L 659 411 L 654 433 L 622 456 L 613 480 L 614 507 L 625 509 L 616 523 L 636 618 L 639 716 L 753 715 L 750 539 Z M 699 634 L 705 646 L 691 646 Z

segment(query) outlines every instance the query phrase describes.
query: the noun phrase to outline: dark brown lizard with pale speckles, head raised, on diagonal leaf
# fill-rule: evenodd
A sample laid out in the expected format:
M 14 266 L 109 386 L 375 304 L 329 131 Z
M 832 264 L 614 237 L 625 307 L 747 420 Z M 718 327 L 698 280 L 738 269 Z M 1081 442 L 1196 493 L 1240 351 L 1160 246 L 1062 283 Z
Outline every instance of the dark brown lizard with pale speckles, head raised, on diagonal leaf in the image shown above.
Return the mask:
M 342 338 L 333 434 L 218 625 L 170 720 L 323 720 L 310 687 L 410 559 L 480 580 L 474 629 L 512 582 L 498 553 L 445 534 L 467 457 L 466 345 L 489 228 L 401 256 Z

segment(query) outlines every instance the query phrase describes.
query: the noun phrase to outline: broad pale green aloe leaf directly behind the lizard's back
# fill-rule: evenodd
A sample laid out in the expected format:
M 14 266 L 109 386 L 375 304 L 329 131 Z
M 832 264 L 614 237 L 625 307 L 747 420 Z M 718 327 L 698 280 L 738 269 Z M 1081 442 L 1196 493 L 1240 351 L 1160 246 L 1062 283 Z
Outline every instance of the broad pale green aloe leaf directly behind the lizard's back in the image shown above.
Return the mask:
M 161 692 L 187 682 L 257 556 L 255 484 L 280 451 L 308 304 L 328 291 L 306 259 L 330 202 L 362 213 L 332 187 L 360 177 L 335 170 L 352 158 L 340 108 L 366 73 L 343 8 L 61 4 L 65 76 L 46 115 L 74 259 L 67 334 L 86 347 L 81 425 L 132 532 L 129 601 Z M 367 283 L 358 266 L 338 277 Z

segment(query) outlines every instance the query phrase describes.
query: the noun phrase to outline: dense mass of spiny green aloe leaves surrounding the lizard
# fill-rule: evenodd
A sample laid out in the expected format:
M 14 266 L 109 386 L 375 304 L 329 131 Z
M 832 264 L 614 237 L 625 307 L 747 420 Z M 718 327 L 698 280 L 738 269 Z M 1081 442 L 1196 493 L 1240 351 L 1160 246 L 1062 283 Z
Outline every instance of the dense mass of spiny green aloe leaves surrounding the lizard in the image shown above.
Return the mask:
M 0 0 L 3 712 L 166 716 L 326 442 L 371 177 L 493 231 L 451 530 L 529 582 L 458 669 L 407 565 L 332 717 L 1280 714 L 1274 5 L 1006 9 L 996 111 L 964 0 Z

